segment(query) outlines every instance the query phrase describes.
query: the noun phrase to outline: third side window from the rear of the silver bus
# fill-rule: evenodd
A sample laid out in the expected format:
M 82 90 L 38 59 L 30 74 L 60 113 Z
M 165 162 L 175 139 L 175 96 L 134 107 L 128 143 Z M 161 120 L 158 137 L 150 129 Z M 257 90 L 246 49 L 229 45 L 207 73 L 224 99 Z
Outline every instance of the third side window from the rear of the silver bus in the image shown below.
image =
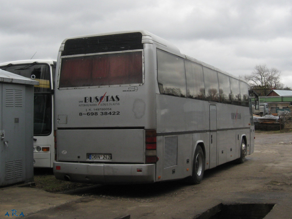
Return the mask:
M 219 84 L 217 72 L 206 67 L 203 67 L 203 70 L 206 99 L 219 102 Z

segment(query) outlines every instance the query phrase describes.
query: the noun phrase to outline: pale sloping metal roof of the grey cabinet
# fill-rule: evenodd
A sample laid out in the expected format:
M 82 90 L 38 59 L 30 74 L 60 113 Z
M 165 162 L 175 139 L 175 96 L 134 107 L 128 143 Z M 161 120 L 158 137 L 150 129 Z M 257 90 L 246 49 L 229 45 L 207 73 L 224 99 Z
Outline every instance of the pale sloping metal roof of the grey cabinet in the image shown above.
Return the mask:
M 39 85 L 39 81 L 20 76 L 18 74 L 13 74 L 2 69 L 0 69 L 0 82 Z

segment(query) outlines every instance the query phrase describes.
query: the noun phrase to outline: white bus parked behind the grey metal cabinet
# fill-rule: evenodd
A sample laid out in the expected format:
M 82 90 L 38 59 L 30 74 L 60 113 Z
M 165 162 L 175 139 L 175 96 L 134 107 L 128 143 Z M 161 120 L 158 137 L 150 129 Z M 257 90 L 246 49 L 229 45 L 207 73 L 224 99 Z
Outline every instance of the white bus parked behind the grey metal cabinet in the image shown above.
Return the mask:
M 14 74 L 39 81 L 34 86 L 34 167 L 53 167 L 55 158 L 53 132 L 53 90 L 56 61 L 19 60 L 0 64 Z

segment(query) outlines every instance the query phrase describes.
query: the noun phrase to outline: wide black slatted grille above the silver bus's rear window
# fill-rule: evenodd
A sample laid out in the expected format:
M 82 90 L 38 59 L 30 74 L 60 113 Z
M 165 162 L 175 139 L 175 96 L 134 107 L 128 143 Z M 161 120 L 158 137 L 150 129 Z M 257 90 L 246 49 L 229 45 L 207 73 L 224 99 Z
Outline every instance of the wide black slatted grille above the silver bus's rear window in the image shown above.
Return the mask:
M 142 34 L 140 32 L 68 39 L 65 42 L 62 55 L 102 53 L 133 49 L 143 49 Z

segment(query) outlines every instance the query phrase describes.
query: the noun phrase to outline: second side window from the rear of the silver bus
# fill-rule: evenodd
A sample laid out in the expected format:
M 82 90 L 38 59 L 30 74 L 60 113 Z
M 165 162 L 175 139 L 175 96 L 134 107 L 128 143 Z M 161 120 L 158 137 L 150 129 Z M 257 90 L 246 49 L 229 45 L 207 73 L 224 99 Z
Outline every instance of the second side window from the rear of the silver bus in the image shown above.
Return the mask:
M 185 61 L 187 76 L 187 97 L 205 99 L 203 67 L 197 63 Z

